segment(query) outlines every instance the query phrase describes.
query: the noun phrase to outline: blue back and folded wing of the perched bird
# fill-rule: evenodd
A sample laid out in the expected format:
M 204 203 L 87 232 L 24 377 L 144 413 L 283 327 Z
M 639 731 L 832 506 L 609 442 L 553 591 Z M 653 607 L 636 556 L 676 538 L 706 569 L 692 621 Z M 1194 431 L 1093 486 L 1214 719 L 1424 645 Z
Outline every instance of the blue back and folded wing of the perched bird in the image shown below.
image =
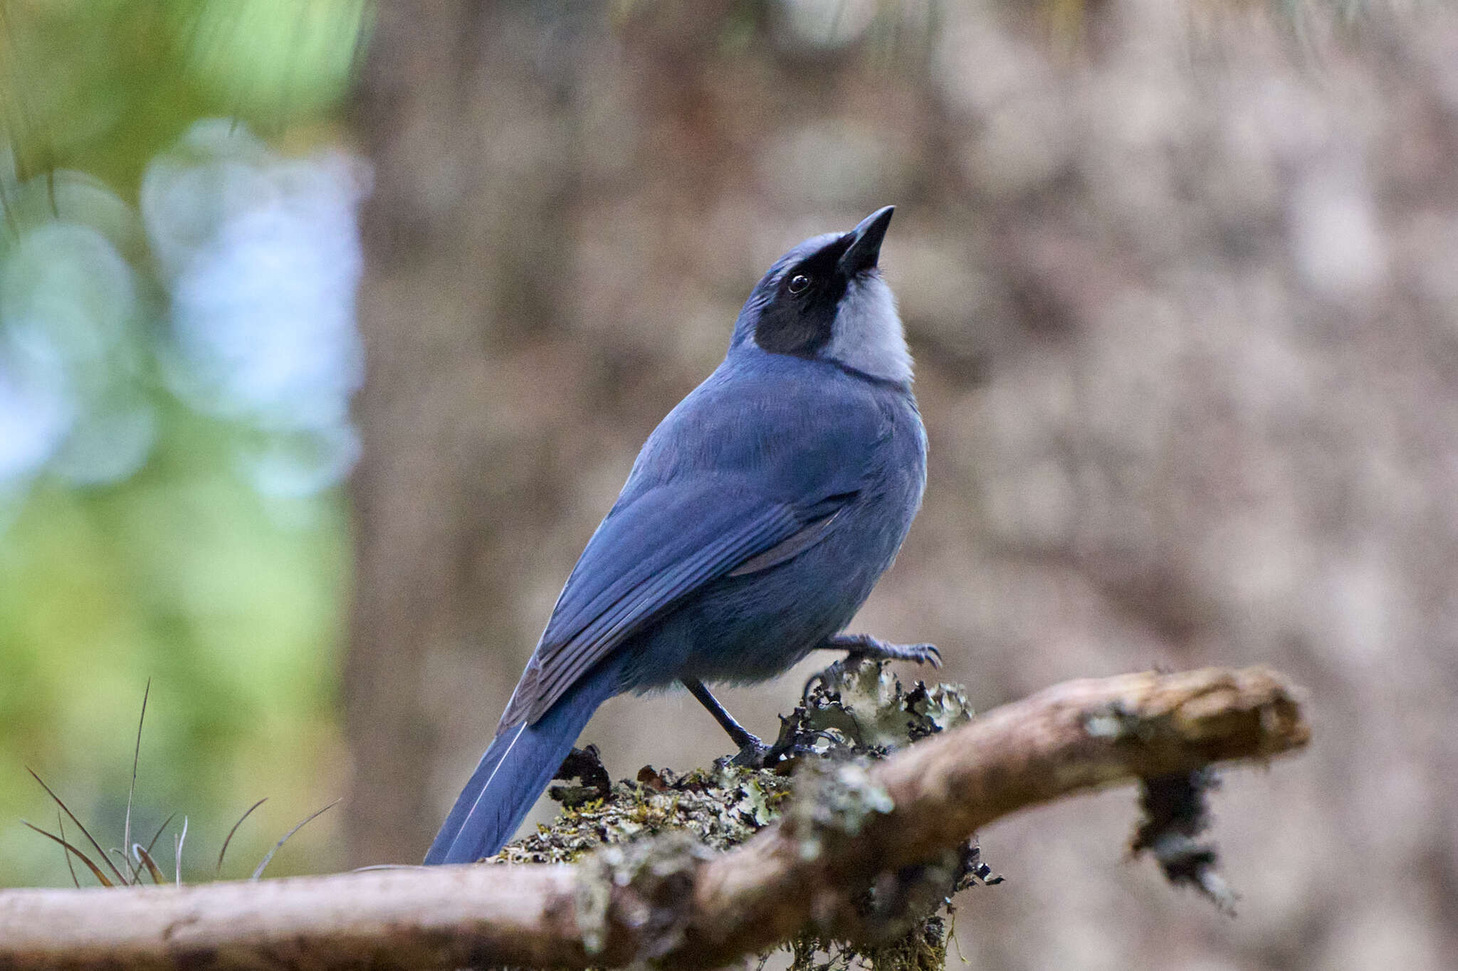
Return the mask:
M 796 360 L 720 368 L 653 432 L 567 578 L 502 716 L 535 722 L 593 664 L 700 587 L 809 549 L 854 501 L 885 415 L 859 383 Z

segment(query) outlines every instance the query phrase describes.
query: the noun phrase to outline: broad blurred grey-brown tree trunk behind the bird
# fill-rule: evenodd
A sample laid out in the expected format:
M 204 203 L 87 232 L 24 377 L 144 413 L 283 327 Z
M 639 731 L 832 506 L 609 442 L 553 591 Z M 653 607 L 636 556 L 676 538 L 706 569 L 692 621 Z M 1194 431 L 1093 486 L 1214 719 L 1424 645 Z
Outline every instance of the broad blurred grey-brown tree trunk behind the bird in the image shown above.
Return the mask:
M 1061 44 L 1040 4 L 844 4 L 850 39 L 816 47 L 815 6 L 381 4 L 353 860 L 420 859 L 764 266 L 894 202 L 929 486 L 856 627 L 939 642 L 980 706 L 1260 659 L 1324 713 L 1289 798 L 1232 780 L 1219 806 L 1239 923 L 1099 856 L 1086 833 L 1127 806 L 1088 801 L 987 834 L 1018 887 L 977 895 L 968 956 L 1446 967 L 1458 16 L 1331 42 L 1324 4 L 1267 4 L 1314 9 L 1293 32 L 1108 0 Z M 773 731 L 796 687 L 726 703 Z M 723 754 L 674 699 L 609 702 L 586 737 L 617 777 Z

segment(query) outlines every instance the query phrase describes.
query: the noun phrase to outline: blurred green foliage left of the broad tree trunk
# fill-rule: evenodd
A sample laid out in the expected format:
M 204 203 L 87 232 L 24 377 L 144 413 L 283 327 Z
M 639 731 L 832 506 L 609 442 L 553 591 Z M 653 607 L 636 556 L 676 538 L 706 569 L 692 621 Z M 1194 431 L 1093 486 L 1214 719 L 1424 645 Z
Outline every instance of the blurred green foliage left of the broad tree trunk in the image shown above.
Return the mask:
M 229 850 L 235 876 L 343 790 L 340 476 L 261 486 L 249 457 L 287 454 L 302 432 L 178 390 L 197 361 L 179 345 L 178 294 L 191 285 L 197 304 L 210 278 L 188 284 L 190 265 L 156 250 L 160 217 L 139 207 L 149 166 L 203 119 L 230 119 L 252 172 L 284 173 L 274 183 L 292 178 L 289 157 L 340 141 L 367 32 L 364 0 L 0 0 L 0 885 L 70 881 L 19 823 L 55 825 L 25 766 L 120 844 L 149 677 L 133 828 L 187 814 L 184 876 L 211 875 L 255 799 L 270 796 Z M 194 182 L 163 215 L 226 253 L 227 220 L 254 199 Z M 278 204 L 273 183 L 245 185 Z M 175 211 L 178 198 L 200 211 Z M 232 319 L 216 310 L 235 297 Z M 223 291 L 191 339 L 254 306 Z M 347 400 L 348 379 L 325 379 Z M 311 824 L 270 872 L 334 865 L 331 831 L 328 815 Z M 169 871 L 172 837 L 159 846 Z

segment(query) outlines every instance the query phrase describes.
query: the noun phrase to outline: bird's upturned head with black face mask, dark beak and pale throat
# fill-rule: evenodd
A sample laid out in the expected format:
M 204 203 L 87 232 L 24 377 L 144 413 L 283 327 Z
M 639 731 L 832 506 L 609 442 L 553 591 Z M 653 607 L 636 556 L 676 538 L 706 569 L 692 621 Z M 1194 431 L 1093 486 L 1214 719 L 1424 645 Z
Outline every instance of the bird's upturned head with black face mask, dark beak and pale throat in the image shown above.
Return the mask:
M 894 211 L 876 210 L 849 233 L 812 236 L 780 256 L 739 312 L 730 348 L 819 358 L 908 383 L 901 316 L 876 266 Z

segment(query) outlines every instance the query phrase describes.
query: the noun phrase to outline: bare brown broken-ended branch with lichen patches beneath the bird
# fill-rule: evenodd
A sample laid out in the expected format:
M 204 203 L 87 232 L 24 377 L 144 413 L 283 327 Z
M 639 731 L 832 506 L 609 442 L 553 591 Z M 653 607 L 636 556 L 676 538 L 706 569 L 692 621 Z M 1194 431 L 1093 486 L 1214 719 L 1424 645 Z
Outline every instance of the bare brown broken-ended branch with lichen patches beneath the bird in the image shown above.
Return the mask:
M 267 882 L 0 892 L 0 968 L 720 967 L 850 926 L 847 900 L 1016 809 L 1303 745 L 1264 668 L 1072 681 L 870 767 L 806 773 L 783 818 L 722 855 L 685 839 L 574 866 L 451 866 Z

